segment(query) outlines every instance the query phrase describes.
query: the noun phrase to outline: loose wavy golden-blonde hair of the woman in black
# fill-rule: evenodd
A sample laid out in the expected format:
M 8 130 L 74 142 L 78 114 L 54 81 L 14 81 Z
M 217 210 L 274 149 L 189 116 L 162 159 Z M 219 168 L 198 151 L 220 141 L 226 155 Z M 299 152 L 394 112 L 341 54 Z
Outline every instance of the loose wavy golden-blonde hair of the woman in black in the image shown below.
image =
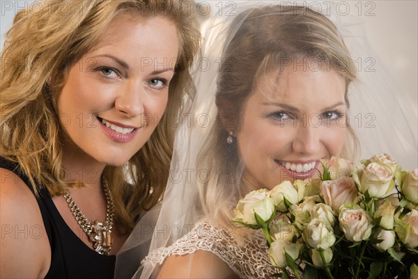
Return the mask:
M 176 24 L 178 60 L 160 125 L 129 162 L 107 166 L 102 174 L 111 185 L 115 220 L 129 232 L 139 213 L 158 202 L 167 183 L 174 132 L 167 119 L 181 110 L 184 94 L 194 90 L 189 67 L 200 44 L 195 9 L 182 0 L 54 0 L 45 5 L 36 13 L 29 8 L 17 13 L 6 35 L 1 53 L 0 155 L 22 167 L 36 193 L 38 184 L 52 196 L 75 186 L 65 181 L 63 128 L 55 103 L 69 68 L 123 13 L 163 16 Z M 127 183 L 126 173 L 133 185 Z

